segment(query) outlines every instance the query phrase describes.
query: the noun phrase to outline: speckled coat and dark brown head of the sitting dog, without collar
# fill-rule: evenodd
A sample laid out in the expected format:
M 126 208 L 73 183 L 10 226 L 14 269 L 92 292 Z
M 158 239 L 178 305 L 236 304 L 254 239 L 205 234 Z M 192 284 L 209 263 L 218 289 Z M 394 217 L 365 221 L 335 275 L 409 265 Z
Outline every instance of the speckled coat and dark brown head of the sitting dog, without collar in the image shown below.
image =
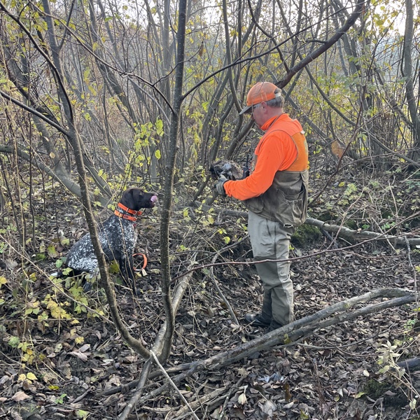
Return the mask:
M 128 188 L 123 193 L 120 203 L 128 209 L 138 211 L 154 207 L 157 201 L 158 197 L 154 193 L 144 193 L 140 188 Z M 121 214 L 129 215 L 122 209 L 118 208 L 118 210 Z M 137 241 L 135 225 L 135 221 L 120 218 L 113 214 L 99 226 L 99 241 L 106 260 L 116 260 L 118 262 L 123 278 L 128 284 L 131 283 L 134 290 L 133 253 Z M 85 235 L 73 245 L 67 254 L 66 265 L 73 269 L 75 274 L 97 272 L 98 260 L 94 255 L 90 234 Z

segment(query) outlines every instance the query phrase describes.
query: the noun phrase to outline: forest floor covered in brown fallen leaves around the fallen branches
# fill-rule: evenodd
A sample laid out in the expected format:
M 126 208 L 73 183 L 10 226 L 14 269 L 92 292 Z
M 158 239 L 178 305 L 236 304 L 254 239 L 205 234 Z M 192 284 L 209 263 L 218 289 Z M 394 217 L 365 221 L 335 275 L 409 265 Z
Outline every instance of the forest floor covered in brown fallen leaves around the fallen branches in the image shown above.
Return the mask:
M 144 360 L 116 332 L 101 289 L 84 294 L 70 280 L 62 283 L 61 292 L 53 286 L 48 274 L 69 249 L 57 237 L 72 244 L 86 232 L 80 209 L 66 197 L 57 202 L 62 206 L 56 210 L 59 216 L 48 218 L 49 226 L 39 226 L 48 238 L 41 244 L 45 249 L 39 248 L 46 258 L 39 251 L 29 260 L 15 261 L 12 253 L 0 260 L 7 279 L 0 296 L 0 419 L 116 419 L 134 392 L 117 387 L 138 379 Z M 209 263 L 226 243 L 246 236 L 245 226 L 243 218 L 180 211 L 171 228 L 173 276 L 186 270 L 192 251 L 199 251 L 199 264 Z M 116 295 L 132 335 L 151 346 L 164 320 L 158 214 L 146 211 L 138 230 L 137 251 L 148 255 L 148 275 L 138 279 L 138 297 L 123 286 L 116 286 Z M 290 252 L 297 319 L 375 288 L 414 290 L 418 252 L 377 241 L 349 248 L 346 241 L 332 243 L 322 235 L 301 243 L 293 241 Z M 217 262 L 251 260 L 245 239 Z M 27 278 L 29 274 L 27 283 L 22 283 L 22 270 Z M 172 354 L 165 366 L 171 377 L 186 363 L 265 333 L 241 322 L 262 302 L 255 266 L 214 267 L 239 325 L 208 274 L 206 269 L 194 272 L 176 315 Z M 94 312 L 86 312 L 83 304 Z M 392 369 L 395 360 L 420 354 L 415 309 L 416 304 L 409 304 L 337 322 L 221 369 L 195 372 L 177 385 L 178 391 L 199 419 L 419 419 L 419 402 L 415 408 L 414 400 L 420 393 L 420 372 L 405 372 L 398 379 Z M 383 354 L 391 355 L 382 364 L 391 366 L 385 374 L 378 365 Z M 156 372 L 144 395 L 166 381 Z M 178 391 L 169 386 L 134 409 L 130 419 L 193 419 Z

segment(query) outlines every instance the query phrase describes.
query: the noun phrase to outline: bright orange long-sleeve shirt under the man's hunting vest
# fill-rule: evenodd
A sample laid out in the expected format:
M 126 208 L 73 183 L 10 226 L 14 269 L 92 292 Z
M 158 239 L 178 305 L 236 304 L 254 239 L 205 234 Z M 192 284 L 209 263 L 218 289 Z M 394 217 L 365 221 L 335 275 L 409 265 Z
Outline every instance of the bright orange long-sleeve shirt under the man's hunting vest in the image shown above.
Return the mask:
M 261 130 L 266 133 L 255 148 L 258 158 L 255 169 L 245 179 L 225 182 L 225 192 L 229 197 L 247 200 L 265 193 L 272 185 L 276 172 L 285 171 L 297 158 L 297 148 L 291 136 L 303 131 L 299 121 L 283 113 L 267 120 Z

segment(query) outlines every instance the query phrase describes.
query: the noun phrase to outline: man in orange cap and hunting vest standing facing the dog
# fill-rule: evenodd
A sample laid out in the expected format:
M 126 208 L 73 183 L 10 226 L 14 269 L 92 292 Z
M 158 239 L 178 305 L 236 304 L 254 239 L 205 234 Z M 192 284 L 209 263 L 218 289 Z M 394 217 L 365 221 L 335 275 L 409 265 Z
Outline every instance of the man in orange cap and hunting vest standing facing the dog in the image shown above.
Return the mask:
M 293 321 L 293 283 L 286 260 L 290 236 L 307 217 L 308 149 L 302 126 L 283 112 L 281 92 L 272 83 L 251 87 L 243 113 L 251 113 L 265 132 L 255 148 L 251 174 L 239 181 L 221 177 L 215 188 L 247 207 L 254 259 L 280 260 L 256 264 L 264 286 L 262 310 L 244 316 L 247 323 L 272 331 Z

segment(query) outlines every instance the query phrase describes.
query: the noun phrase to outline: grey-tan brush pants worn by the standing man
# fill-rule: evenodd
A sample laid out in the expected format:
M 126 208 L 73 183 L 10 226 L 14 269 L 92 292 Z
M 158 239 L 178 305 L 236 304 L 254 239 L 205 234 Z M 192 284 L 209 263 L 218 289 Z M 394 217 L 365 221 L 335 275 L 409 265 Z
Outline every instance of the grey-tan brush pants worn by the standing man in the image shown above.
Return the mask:
M 255 261 L 285 260 L 289 255 L 290 236 L 294 228 L 269 221 L 249 211 L 248 232 Z M 290 280 L 290 262 L 262 262 L 255 264 L 264 286 L 261 316 L 271 321 L 270 329 L 293 321 L 293 283 Z

